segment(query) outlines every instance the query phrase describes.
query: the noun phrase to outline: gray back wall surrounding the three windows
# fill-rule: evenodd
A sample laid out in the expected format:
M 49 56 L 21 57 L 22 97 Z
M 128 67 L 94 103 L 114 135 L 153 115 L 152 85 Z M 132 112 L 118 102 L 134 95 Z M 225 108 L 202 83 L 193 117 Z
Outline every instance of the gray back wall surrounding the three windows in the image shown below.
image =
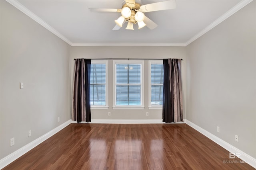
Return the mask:
M 135 54 L 135 55 L 131 55 Z M 182 61 L 182 85 L 184 90 L 184 119 L 186 119 L 186 51 L 185 47 L 145 47 L 145 46 L 104 46 L 104 47 L 72 47 L 72 68 L 74 59 L 78 58 L 144 58 L 164 59 L 176 58 Z M 148 109 L 148 60 L 144 61 L 144 106 L 143 110 L 116 110 L 113 106 L 113 61 L 108 61 L 108 109 L 92 109 L 92 119 L 162 119 L 162 109 Z M 73 75 L 71 80 L 73 80 Z M 111 116 L 108 116 L 111 112 Z M 149 115 L 146 116 L 146 112 Z

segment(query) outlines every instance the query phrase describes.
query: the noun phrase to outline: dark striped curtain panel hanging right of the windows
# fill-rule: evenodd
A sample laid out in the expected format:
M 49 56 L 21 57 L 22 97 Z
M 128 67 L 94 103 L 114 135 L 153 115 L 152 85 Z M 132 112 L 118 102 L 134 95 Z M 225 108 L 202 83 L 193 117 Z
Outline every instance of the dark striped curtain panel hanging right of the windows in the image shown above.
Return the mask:
M 183 121 L 181 59 L 164 59 L 163 122 Z

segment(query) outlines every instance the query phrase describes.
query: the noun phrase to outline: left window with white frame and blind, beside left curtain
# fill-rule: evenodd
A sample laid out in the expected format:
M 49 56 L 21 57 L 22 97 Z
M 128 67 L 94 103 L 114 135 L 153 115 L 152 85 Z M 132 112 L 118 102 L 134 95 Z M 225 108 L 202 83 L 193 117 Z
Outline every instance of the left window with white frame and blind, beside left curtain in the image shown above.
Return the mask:
M 91 108 L 108 108 L 108 61 L 91 62 L 90 105 Z

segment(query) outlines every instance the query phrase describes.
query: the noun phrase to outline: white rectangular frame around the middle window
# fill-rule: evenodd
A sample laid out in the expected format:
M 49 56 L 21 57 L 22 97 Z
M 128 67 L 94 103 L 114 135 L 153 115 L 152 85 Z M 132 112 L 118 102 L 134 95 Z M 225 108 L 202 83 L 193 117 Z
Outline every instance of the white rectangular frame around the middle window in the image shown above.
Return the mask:
M 116 64 L 141 64 L 140 66 L 140 100 L 141 105 L 116 105 Z M 113 109 L 144 109 L 144 61 L 113 60 Z

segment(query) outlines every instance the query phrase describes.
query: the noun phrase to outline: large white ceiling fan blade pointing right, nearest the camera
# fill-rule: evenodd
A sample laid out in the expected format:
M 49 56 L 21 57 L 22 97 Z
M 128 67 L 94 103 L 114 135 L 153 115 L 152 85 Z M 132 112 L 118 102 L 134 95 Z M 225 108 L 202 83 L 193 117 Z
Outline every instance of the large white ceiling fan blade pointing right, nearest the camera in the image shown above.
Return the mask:
M 161 11 L 161 10 L 170 10 L 176 8 L 175 0 L 168 0 L 163 2 L 156 2 L 152 4 L 146 4 L 140 6 L 138 11 L 140 12 L 152 12 L 152 11 Z

